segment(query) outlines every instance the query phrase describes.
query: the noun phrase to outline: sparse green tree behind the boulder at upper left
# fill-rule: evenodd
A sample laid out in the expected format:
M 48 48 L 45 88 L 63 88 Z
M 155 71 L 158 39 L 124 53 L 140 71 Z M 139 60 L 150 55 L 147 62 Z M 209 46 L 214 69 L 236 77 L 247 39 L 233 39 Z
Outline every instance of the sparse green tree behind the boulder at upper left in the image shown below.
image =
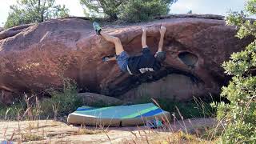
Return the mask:
M 62 18 L 69 15 L 69 10 L 65 6 L 54 3 L 55 0 L 17 0 L 17 5 L 10 6 L 5 27 L 44 22 L 50 18 Z

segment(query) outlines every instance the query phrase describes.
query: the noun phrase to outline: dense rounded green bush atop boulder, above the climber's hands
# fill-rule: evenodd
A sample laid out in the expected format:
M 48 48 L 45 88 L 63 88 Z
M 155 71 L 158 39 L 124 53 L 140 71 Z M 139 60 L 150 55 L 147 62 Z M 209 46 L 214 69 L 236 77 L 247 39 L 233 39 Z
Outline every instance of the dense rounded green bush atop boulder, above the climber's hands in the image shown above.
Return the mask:
M 127 22 L 148 21 L 168 14 L 172 0 L 129 0 L 122 6 L 120 17 Z

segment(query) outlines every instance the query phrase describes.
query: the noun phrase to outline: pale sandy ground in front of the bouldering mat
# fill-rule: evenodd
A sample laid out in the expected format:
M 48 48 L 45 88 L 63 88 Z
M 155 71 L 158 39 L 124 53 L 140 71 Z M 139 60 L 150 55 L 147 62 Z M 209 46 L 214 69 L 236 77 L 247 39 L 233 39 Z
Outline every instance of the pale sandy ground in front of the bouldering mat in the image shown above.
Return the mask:
M 215 124 L 214 118 L 196 118 L 171 122 L 169 128 L 152 130 L 146 126 L 72 126 L 53 120 L 0 122 L 0 143 L 4 139 L 12 139 L 14 143 L 150 143 L 150 138 L 166 138 L 179 130 L 198 134 Z M 138 142 L 139 139 L 142 141 Z

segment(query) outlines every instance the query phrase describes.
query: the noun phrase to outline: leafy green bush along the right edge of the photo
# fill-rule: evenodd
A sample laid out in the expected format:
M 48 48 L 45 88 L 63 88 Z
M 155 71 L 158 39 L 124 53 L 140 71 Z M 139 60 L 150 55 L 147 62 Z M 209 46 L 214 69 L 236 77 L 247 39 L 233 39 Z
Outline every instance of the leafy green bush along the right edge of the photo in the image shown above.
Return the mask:
M 226 17 L 228 25 L 238 27 L 238 38 L 256 36 L 256 22 L 246 19 L 256 14 L 256 1 L 249 0 L 246 10 L 230 12 Z M 234 53 L 229 62 L 222 64 L 226 74 L 233 78 L 228 86 L 222 87 L 222 96 L 230 104 L 218 105 L 218 119 L 226 123 L 222 143 L 255 143 L 256 142 L 256 41 L 245 50 Z

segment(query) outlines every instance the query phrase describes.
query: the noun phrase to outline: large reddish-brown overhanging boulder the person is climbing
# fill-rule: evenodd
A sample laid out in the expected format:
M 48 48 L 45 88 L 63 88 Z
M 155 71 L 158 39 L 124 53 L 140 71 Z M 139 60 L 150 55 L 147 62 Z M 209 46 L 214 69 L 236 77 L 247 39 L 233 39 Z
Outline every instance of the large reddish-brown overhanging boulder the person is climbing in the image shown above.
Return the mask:
M 142 49 L 141 26 L 148 26 L 152 53 L 158 49 L 159 27 L 166 26 L 162 70 L 134 76 L 122 73 L 116 62 L 102 62 L 103 56 L 114 54 L 114 45 L 95 35 L 88 20 L 55 19 L 19 27 L 18 34 L 16 29 L 9 35 L 2 32 L 0 90 L 40 92 L 62 86 L 66 77 L 83 90 L 121 98 L 149 95 L 186 100 L 219 94 L 228 79 L 222 62 L 251 42 L 235 38 L 235 27 L 221 19 L 166 17 L 136 26 L 106 26 L 104 31 L 120 38 L 130 55 Z

